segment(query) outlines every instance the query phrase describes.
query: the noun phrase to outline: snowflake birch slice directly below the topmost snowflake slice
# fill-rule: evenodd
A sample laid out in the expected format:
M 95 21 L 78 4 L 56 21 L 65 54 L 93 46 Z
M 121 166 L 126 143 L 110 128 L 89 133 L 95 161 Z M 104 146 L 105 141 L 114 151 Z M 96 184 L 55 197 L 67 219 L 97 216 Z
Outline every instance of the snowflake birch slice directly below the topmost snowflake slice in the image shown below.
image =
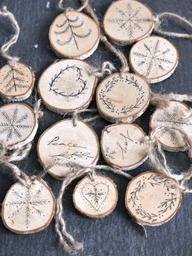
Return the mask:
M 167 39 L 152 36 L 134 44 L 129 63 L 134 73 L 146 77 L 149 82 L 161 82 L 174 73 L 178 64 L 178 51 Z

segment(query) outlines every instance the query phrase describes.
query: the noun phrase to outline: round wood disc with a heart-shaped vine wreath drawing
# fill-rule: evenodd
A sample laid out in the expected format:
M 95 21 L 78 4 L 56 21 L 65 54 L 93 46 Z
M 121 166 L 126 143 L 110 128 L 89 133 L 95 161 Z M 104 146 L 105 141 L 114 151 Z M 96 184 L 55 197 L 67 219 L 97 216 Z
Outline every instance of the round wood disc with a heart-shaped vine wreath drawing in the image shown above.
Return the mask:
M 60 60 L 41 74 L 38 91 L 46 107 L 56 113 L 70 113 L 89 105 L 97 78 L 82 60 Z

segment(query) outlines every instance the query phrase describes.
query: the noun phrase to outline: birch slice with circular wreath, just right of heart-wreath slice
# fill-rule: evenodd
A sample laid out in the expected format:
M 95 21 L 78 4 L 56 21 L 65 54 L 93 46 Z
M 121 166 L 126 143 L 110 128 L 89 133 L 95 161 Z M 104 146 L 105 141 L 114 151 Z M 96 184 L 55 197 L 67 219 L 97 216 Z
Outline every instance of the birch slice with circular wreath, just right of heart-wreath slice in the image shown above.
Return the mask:
M 134 121 L 145 112 L 150 96 L 150 87 L 142 77 L 113 73 L 98 85 L 96 103 L 108 121 Z

